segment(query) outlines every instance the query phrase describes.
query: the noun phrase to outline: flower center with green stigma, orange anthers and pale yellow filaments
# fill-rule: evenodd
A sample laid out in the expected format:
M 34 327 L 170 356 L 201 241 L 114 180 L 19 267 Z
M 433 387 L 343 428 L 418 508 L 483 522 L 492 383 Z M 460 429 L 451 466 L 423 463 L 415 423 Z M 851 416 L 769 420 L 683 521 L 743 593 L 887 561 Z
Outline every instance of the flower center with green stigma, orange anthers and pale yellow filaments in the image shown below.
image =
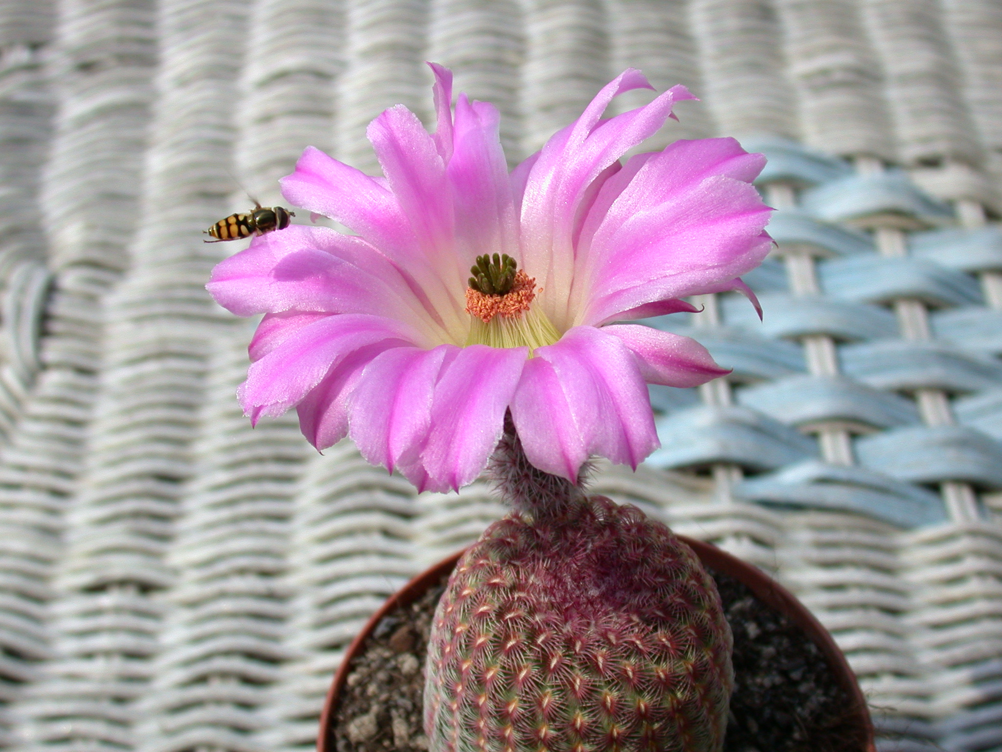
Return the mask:
M 535 348 L 560 339 L 546 315 L 532 305 L 538 292 L 536 281 L 518 269 L 510 256 L 479 256 L 470 272 L 466 312 L 473 322 L 467 345 L 528 347 L 531 357 Z

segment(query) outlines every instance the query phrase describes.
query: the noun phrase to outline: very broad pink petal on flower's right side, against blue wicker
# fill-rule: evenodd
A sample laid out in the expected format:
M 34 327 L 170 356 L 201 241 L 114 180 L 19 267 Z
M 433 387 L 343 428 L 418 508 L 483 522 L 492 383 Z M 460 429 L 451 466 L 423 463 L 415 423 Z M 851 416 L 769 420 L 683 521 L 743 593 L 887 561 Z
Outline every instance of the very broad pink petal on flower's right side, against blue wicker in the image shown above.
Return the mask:
M 772 210 L 747 182 L 762 168 L 761 154 L 732 138 L 707 138 L 675 141 L 630 177 L 634 161 L 603 186 L 585 222 L 572 300 L 577 323 L 706 292 L 769 252 L 763 229 Z M 625 291 L 632 292 L 602 300 Z

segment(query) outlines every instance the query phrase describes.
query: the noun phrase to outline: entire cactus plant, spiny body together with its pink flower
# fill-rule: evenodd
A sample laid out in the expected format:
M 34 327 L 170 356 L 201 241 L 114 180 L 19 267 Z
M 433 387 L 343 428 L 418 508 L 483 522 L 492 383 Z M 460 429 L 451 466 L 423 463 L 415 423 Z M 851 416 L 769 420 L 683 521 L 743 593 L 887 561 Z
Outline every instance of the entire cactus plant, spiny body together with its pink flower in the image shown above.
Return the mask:
M 732 138 L 630 149 L 684 86 L 627 69 L 510 173 L 491 104 L 432 65 L 437 126 L 391 107 L 368 134 L 384 176 L 316 148 L 286 200 L 353 234 L 293 225 L 219 263 L 208 290 L 264 314 L 237 395 L 296 407 L 318 449 L 448 491 L 487 467 L 511 513 L 463 558 L 432 641 L 428 728 L 447 750 L 719 749 L 730 638 L 709 578 L 662 524 L 588 496 L 589 457 L 658 446 L 646 384 L 727 373 L 692 339 L 627 322 L 739 291 L 769 253 L 765 157 Z M 496 451 L 496 453 L 495 453 Z

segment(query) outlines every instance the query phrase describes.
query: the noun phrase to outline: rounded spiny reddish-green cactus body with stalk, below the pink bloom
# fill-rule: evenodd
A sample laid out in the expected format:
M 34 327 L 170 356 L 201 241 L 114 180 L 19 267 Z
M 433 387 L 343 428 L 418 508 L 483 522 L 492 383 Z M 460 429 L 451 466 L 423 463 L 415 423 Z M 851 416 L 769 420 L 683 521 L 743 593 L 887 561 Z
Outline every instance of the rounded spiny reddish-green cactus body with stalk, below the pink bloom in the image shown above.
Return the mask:
M 512 511 L 460 559 L 432 626 L 431 752 L 718 752 L 731 636 L 668 527 L 532 467 L 491 463 Z

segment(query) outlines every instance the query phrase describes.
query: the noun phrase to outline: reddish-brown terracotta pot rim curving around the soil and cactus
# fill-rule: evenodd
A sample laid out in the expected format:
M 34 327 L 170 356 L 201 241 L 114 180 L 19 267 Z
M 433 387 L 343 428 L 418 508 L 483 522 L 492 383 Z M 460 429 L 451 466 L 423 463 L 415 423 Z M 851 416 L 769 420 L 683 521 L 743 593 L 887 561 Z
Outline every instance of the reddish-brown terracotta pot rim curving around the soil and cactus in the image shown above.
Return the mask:
M 730 555 L 711 543 L 694 540 L 685 535 L 678 535 L 678 539 L 689 545 L 705 567 L 722 575 L 729 575 L 737 580 L 752 591 L 756 598 L 784 614 L 811 638 L 828 660 L 829 666 L 836 675 L 839 685 L 851 698 L 852 708 L 848 710 L 848 714 L 856 716 L 857 723 L 866 729 L 867 752 L 875 752 L 874 728 L 873 722 L 870 719 L 870 711 L 867 708 L 866 698 L 864 698 L 863 691 L 856 681 L 856 676 L 846 662 L 846 657 L 839 650 L 828 630 L 822 627 L 821 623 L 815 619 L 811 612 L 790 591 L 766 575 L 762 570 L 741 561 L 736 556 Z M 455 569 L 456 562 L 461 555 L 463 555 L 463 551 L 454 553 L 404 586 L 402 590 L 383 605 L 383 608 L 373 614 L 369 623 L 358 634 L 355 640 L 352 641 L 348 651 L 345 653 L 345 658 L 341 662 L 341 667 L 338 669 L 338 673 L 335 674 L 334 681 L 331 683 L 331 689 L 327 693 L 327 700 L 324 702 L 324 711 L 320 717 L 320 736 L 317 740 L 317 752 L 337 752 L 332 743 L 334 735 L 331 733 L 334 712 L 338 706 L 341 691 L 348 680 L 348 671 L 352 660 L 362 651 L 363 644 L 376 629 L 376 625 L 380 623 L 383 617 L 398 606 L 409 606 L 420 599 L 429 588 L 441 582 L 443 578 Z

